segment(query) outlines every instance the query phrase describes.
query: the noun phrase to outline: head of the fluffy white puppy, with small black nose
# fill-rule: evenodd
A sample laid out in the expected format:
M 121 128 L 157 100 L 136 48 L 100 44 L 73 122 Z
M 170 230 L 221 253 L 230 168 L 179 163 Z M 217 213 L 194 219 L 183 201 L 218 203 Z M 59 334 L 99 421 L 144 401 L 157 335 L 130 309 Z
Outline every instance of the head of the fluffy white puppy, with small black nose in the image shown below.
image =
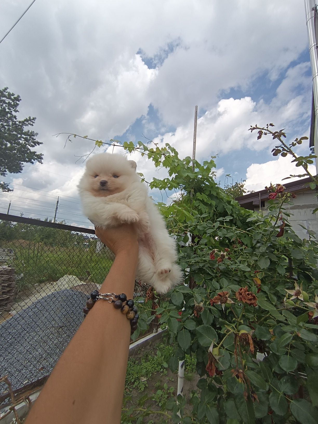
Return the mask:
M 93 156 L 86 163 L 86 170 L 80 186 L 94 196 L 109 196 L 120 193 L 136 176 L 136 162 L 127 161 L 123 156 L 102 153 Z

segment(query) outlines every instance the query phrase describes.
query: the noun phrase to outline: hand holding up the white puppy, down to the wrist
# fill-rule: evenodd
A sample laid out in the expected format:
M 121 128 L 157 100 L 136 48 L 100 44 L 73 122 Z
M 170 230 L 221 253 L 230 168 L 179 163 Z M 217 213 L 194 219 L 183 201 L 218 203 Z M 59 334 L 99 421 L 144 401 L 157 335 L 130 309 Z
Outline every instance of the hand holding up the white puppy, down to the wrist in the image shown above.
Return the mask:
M 138 249 L 137 229 L 134 224 L 102 229 L 95 227 L 95 234 L 116 256 L 121 251 Z

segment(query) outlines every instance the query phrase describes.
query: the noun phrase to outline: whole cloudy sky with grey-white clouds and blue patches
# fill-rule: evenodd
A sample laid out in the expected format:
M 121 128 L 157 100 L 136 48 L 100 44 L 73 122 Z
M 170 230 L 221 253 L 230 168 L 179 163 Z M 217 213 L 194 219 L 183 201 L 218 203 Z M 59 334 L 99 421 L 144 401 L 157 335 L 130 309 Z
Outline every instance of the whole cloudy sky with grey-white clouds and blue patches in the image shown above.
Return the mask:
M 0 39 L 31 0 L 2 0 Z M 86 226 L 75 156 L 59 132 L 108 141 L 169 142 L 192 154 L 198 105 L 198 160 L 218 155 L 218 179 L 246 179 L 249 190 L 280 182 L 296 168 L 273 158 L 271 139 L 251 124 L 273 122 L 288 137 L 309 135 L 311 72 L 304 4 L 299 0 L 36 0 L 0 44 L 0 84 L 19 94 L 20 116 L 35 116 L 43 165 L 8 175 L 0 211 Z M 307 142 L 298 153 L 308 153 Z M 147 180 L 152 164 L 134 154 Z M 161 171 L 162 172 L 162 171 Z M 161 175 L 161 174 L 160 174 Z M 153 193 L 162 200 L 160 193 Z

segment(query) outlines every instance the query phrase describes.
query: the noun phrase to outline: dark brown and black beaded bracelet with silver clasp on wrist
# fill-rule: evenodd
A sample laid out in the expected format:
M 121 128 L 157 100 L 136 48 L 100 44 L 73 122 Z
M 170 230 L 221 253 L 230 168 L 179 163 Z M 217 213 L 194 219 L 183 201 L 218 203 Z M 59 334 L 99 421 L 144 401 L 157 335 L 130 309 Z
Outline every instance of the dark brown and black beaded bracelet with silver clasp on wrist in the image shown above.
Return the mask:
M 132 299 L 127 300 L 125 293 L 115 294 L 115 293 L 99 293 L 98 290 L 93 290 L 90 296 L 87 297 L 86 306 L 83 309 L 84 318 L 88 314 L 89 310 L 95 305 L 95 302 L 98 299 L 108 300 L 109 303 L 114 304 L 115 309 L 120 309 L 123 314 L 126 315 L 127 319 L 130 321 L 132 335 L 135 330 L 137 330 L 138 322 L 138 311 L 134 306 L 134 301 Z M 126 304 L 124 304 L 126 302 Z

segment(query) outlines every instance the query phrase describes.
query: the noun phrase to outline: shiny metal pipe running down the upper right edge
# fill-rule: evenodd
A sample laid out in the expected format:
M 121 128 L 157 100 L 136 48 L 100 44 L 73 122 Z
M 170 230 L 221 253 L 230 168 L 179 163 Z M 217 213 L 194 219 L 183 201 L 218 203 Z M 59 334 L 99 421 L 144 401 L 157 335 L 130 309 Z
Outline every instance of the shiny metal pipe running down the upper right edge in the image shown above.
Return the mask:
M 306 26 L 307 26 L 311 73 L 312 73 L 312 91 L 314 96 L 314 107 L 315 107 L 315 126 L 318 125 L 318 53 L 317 53 L 316 31 L 315 31 L 316 13 L 317 13 L 317 9 L 316 9 L 315 0 L 305 0 Z M 314 131 L 316 131 L 316 128 L 314 129 Z M 317 152 L 318 152 L 318 146 L 315 146 L 316 155 L 317 155 Z M 316 171 L 318 173 L 317 159 L 316 159 Z

